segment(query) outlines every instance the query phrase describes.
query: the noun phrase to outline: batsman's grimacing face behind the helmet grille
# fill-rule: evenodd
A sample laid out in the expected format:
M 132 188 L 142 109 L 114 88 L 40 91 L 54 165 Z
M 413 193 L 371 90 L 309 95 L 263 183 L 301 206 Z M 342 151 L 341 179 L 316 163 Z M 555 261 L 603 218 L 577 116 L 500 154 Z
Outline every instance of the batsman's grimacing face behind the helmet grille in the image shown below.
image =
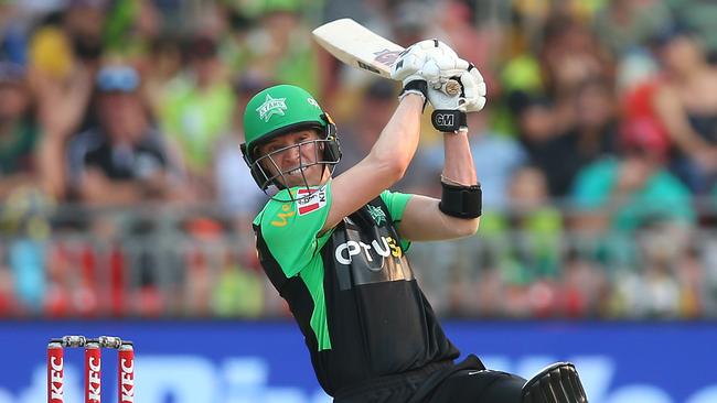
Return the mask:
M 270 140 L 259 148 L 259 155 L 270 155 L 263 161 L 270 176 L 286 187 L 315 186 L 323 179 L 323 164 L 318 164 L 323 154 L 315 130 L 290 132 Z M 306 178 L 306 179 L 304 179 Z

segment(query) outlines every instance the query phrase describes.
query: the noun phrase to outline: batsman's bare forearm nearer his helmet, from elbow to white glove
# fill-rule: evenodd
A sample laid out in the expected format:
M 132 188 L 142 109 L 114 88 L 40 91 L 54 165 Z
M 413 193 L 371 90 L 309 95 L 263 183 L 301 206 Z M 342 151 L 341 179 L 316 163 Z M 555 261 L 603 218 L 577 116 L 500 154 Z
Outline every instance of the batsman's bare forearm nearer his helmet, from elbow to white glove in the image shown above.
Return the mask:
M 422 108 L 421 97 L 413 94 L 404 97 L 371 149 L 368 157 L 399 177 L 403 176 L 418 148 Z

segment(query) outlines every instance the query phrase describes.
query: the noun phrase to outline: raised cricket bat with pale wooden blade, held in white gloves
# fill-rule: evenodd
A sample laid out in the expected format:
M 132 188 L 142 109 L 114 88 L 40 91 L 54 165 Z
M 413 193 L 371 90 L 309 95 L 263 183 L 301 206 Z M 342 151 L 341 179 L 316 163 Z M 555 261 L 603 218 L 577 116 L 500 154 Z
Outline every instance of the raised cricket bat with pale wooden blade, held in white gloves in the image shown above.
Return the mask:
M 312 32 L 313 39 L 334 57 L 352 67 L 390 79 L 390 67 L 404 47 L 374 33 L 352 19 L 328 22 Z M 460 84 L 446 84 L 448 95 L 460 92 Z

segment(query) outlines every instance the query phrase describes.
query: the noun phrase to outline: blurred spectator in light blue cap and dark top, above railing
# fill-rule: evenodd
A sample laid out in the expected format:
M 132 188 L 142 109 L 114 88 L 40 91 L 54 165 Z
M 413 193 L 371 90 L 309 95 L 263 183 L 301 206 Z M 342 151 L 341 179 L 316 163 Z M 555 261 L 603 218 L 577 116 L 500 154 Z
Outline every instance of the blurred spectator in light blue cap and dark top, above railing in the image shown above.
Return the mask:
M 72 139 L 67 150 L 69 186 L 79 200 L 131 205 L 172 198 L 174 165 L 139 85 L 127 65 L 108 65 L 97 74 L 97 124 Z

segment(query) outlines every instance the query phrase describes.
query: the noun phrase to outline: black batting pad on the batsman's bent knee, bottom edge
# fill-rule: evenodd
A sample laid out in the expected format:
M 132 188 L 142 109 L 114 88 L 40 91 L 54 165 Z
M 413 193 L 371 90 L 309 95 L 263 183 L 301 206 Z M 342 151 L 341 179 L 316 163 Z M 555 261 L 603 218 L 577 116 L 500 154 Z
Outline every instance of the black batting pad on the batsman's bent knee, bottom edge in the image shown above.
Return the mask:
M 556 362 L 523 385 L 522 403 L 588 403 L 580 377 L 569 362 Z

